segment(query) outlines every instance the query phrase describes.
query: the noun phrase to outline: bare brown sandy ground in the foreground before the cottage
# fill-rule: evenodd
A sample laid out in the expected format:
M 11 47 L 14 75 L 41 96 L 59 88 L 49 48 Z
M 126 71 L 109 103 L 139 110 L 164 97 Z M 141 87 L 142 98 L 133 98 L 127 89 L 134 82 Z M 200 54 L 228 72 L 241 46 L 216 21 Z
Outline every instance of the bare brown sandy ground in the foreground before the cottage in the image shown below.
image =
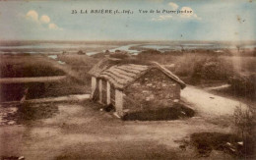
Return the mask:
M 0 127 L 0 155 L 41 159 L 187 159 L 180 149 L 191 133 L 229 129 L 202 117 L 161 122 L 123 122 L 91 103 L 57 104 L 59 114 L 27 125 Z M 222 152 L 214 158 L 228 159 Z M 211 157 L 210 157 L 211 158 Z

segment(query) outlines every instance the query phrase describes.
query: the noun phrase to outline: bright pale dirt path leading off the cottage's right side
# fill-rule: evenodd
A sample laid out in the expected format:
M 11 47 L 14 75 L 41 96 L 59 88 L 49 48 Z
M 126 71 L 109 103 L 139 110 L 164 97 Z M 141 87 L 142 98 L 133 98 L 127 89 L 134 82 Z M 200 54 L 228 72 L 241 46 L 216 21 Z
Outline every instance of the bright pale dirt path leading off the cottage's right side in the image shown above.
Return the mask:
M 190 85 L 181 91 L 181 97 L 190 103 L 201 116 L 207 114 L 206 117 L 232 115 L 236 106 L 240 105 L 243 109 L 246 108 L 244 103 Z

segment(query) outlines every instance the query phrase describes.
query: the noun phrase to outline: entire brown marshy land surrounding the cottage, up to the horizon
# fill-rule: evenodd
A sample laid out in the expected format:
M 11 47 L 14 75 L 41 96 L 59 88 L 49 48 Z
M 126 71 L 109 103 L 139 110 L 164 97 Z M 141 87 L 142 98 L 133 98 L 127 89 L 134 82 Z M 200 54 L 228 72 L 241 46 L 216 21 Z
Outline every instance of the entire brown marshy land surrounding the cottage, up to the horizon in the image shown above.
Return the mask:
M 0 44 L 1 156 L 45 160 L 255 157 L 255 42 Z M 90 98 L 72 98 L 90 95 L 88 72 L 104 58 L 134 64 L 157 61 L 187 84 L 181 102 L 189 109 L 177 106 L 125 120 L 116 118 L 112 110 L 105 112 Z M 10 82 L 17 78 L 35 81 Z M 63 100 L 56 101 L 60 97 Z M 37 99 L 45 102 L 36 103 Z M 193 116 L 182 116 L 187 110 Z M 151 119 L 154 116 L 156 120 Z

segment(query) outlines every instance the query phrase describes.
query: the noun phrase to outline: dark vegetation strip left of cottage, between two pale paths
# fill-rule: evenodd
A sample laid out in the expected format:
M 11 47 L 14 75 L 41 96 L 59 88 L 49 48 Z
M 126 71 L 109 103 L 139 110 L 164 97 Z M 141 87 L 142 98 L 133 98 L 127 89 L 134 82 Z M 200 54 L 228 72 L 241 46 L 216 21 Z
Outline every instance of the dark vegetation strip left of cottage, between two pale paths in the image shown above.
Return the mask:
M 26 99 L 58 97 L 70 94 L 85 94 L 90 88 L 73 79 L 56 82 L 29 82 L 1 84 L 0 102 L 19 101 L 28 89 Z

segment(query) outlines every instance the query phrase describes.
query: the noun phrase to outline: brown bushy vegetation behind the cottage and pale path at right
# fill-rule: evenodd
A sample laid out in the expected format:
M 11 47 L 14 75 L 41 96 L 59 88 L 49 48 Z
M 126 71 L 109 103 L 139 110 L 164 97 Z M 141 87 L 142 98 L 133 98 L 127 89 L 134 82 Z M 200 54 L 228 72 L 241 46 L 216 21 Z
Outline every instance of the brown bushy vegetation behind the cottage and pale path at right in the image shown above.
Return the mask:
M 251 53 L 251 52 L 249 52 Z M 141 52 L 137 58 L 141 61 L 157 61 L 162 65 L 174 65 L 174 74 L 188 84 L 212 85 L 231 84 L 231 89 L 220 90 L 226 95 L 255 99 L 256 59 L 245 51 L 236 55 L 224 50 L 187 50 L 165 51 L 148 50 Z M 246 76 L 244 76 L 246 75 Z

